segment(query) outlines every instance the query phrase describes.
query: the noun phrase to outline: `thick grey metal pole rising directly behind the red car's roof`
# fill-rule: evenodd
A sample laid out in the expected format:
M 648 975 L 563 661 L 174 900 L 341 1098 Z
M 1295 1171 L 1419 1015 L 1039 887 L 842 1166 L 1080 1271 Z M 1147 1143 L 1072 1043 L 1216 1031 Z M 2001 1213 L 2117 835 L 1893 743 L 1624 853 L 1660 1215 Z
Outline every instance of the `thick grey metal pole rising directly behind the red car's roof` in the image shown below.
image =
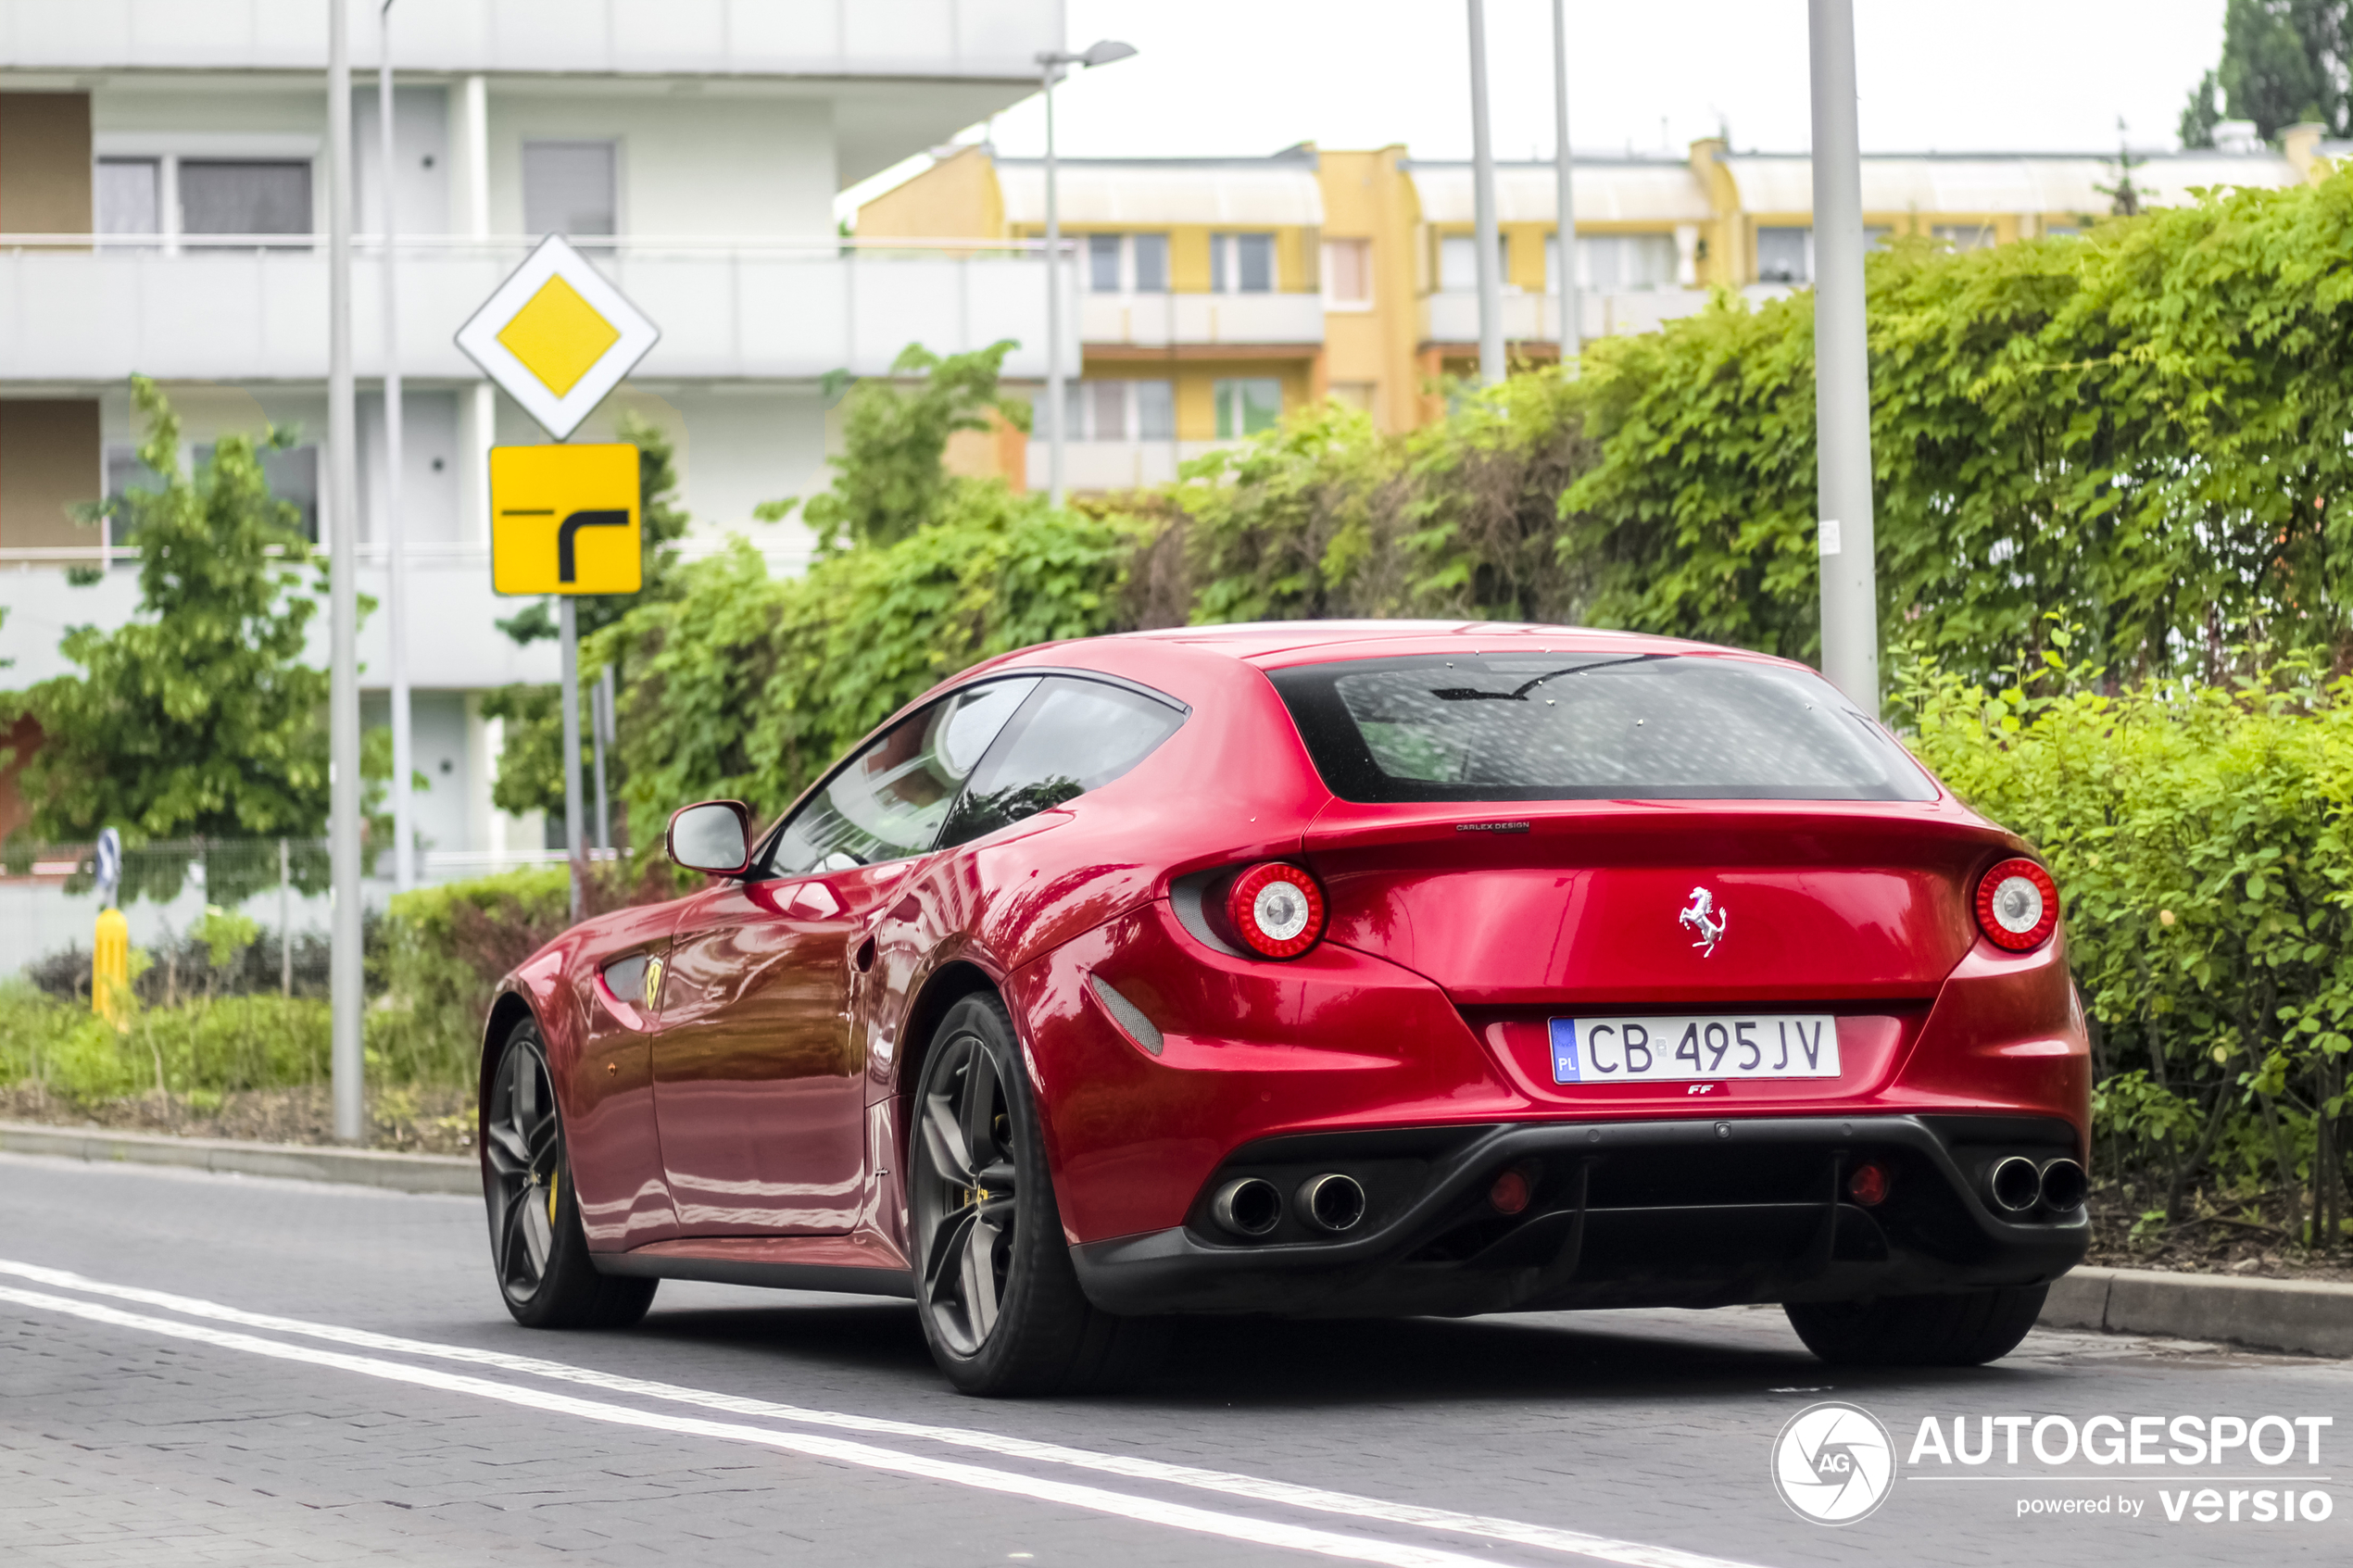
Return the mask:
M 1809 0 L 1814 71 L 1814 442 L 1821 672 L 1880 712 L 1871 510 L 1871 346 L 1864 324 L 1864 160 L 1854 125 L 1854 0 Z

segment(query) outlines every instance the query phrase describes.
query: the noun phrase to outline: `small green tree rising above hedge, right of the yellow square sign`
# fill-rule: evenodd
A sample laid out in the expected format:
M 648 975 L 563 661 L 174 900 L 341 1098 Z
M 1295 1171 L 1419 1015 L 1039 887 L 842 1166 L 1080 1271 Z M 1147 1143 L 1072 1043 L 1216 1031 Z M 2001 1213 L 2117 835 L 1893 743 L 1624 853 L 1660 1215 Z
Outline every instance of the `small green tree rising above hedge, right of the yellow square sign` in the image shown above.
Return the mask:
M 831 555 L 842 543 L 889 545 L 944 517 L 953 494 L 974 484 L 944 465 L 948 437 L 958 430 L 988 430 L 991 414 L 1028 430 L 1028 404 L 998 393 L 1012 348 L 1007 339 L 941 360 L 922 343 L 908 343 L 892 374 L 920 374 L 918 386 L 901 390 L 889 381 L 859 381 L 849 388 L 842 454 L 826 458 L 835 470 L 833 489 L 800 508 L 802 522 L 816 529 L 819 552 Z M 781 515 L 786 505 L 772 503 L 762 515 Z

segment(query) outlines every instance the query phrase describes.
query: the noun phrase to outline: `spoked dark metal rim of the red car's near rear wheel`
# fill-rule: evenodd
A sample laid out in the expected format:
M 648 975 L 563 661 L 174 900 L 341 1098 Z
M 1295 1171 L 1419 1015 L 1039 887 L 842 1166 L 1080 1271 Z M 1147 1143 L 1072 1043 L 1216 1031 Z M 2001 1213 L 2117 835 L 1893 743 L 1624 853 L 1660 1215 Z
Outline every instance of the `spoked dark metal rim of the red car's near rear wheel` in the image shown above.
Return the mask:
M 1016 1159 L 998 1060 L 974 1034 L 925 1074 L 915 1128 L 915 1255 L 922 1305 L 960 1356 L 988 1342 L 1012 1274 Z

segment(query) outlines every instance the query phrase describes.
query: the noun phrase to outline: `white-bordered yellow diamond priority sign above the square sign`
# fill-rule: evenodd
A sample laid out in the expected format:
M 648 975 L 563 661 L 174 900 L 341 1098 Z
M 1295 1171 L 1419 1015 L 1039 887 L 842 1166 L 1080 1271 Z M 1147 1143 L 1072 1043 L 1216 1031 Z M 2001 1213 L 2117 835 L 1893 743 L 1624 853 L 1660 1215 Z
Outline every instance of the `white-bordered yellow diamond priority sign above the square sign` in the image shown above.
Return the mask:
M 572 435 L 656 341 L 654 322 L 560 235 L 541 240 L 456 334 L 466 357 L 555 440 Z

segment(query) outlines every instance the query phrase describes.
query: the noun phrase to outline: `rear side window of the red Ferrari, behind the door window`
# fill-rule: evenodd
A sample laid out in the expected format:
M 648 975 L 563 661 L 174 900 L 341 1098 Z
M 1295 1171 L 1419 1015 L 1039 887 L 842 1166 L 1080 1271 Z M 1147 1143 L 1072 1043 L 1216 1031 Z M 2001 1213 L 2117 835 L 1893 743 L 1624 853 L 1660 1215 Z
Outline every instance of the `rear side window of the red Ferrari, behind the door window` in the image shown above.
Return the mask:
M 965 844 L 1101 790 L 1176 733 L 1184 712 L 1108 682 L 1047 677 L 988 748 L 941 844 Z

